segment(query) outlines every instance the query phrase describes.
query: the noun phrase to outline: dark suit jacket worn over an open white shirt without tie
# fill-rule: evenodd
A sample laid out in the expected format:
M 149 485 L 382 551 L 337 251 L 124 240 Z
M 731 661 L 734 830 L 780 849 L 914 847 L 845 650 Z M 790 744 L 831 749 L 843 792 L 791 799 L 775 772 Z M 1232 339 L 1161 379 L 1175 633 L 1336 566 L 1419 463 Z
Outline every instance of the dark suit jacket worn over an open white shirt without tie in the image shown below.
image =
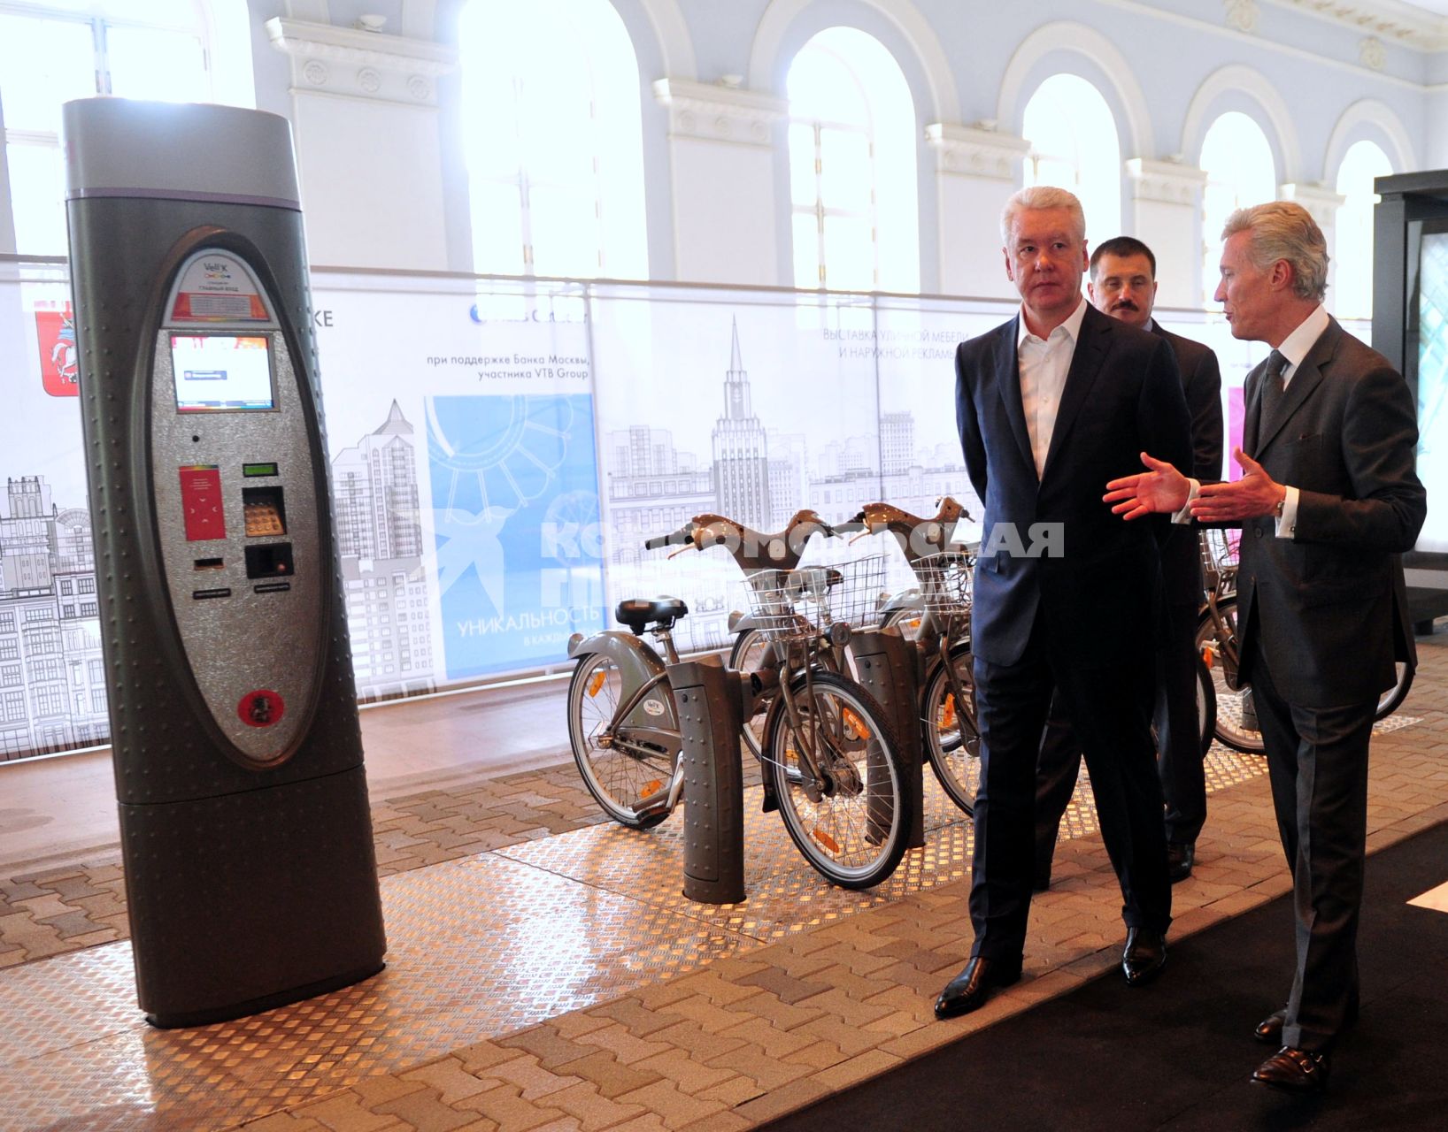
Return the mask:
M 1166 521 L 1122 523 L 1100 497 L 1106 481 L 1141 470 L 1142 452 L 1179 466 L 1190 459 L 1176 360 L 1163 339 L 1087 305 L 1038 478 L 1021 402 L 1018 321 L 956 349 L 960 446 L 985 504 L 975 651 L 995 664 L 1018 662 L 1044 612 L 1066 663 L 1118 663 L 1153 646 Z M 1058 557 L 1001 549 L 1014 541 L 1011 530 L 1027 547 L 1038 543 L 1030 531 L 1041 523 L 1061 524 Z M 999 524 L 1009 524 L 1006 537 Z

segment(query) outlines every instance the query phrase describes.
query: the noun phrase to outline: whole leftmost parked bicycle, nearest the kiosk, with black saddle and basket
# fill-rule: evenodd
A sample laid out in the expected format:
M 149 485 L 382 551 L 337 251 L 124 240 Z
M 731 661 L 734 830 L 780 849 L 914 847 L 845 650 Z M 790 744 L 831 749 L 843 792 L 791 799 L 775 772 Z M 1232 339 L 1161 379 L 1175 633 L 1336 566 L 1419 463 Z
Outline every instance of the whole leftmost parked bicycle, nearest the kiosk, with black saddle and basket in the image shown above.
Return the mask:
M 849 628 L 830 614 L 846 567 L 799 569 L 805 543 L 834 530 L 802 511 L 779 536 L 760 536 L 721 515 L 698 515 L 673 534 L 644 543 L 707 550 L 724 546 L 746 575 L 757 627 L 770 649 L 754 673 L 773 688 L 759 735 L 765 809 L 778 809 L 805 860 L 841 887 L 879 884 L 899 864 L 911 827 L 899 740 L 879 704 L 834 670 Z M 770 563 L 788 563 L 785 566 Z M 631 633 L 608 630 L 571 640 L 578 667 L 569 680 L 568 725 L 584 785 L 604 812 L 647 829 L 678 805 L 682 735 L 665 659 L 678 663 L 673 624 L 688 614 L 676 598 L 620 602 Z

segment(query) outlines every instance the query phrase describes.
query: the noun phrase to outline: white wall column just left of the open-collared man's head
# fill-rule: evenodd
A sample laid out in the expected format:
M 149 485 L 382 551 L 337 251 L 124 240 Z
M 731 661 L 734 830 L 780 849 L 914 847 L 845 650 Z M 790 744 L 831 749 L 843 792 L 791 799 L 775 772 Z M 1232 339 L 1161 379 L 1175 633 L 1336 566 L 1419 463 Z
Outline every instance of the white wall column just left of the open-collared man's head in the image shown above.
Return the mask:
M 925 127 L 935 151 L 940 200 L 940 290 L 947 295 L 1011 298 L 1001 258 L 1001 210 L 1021 188 L 1024 138 L 935 122 Z

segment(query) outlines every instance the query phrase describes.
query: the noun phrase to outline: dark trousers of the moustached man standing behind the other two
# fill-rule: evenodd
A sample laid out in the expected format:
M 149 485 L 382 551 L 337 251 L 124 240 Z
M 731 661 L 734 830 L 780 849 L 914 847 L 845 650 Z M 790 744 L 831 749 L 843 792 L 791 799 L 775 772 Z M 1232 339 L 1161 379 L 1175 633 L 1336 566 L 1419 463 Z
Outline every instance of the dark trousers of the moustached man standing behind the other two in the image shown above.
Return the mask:
M 1206 824 L 1206 770 L 1196 715 L 1196 602 L 1167 607 L 1167 644 L 1157 656 L 1153 724 L 1166 799 L 1167 841 L 1195 844 Z M 1080 773 L 1082 750 L 1057 696 L 1041 738 L 1035 782 L 1035 874 L 1051 873 L 1056 835 Z

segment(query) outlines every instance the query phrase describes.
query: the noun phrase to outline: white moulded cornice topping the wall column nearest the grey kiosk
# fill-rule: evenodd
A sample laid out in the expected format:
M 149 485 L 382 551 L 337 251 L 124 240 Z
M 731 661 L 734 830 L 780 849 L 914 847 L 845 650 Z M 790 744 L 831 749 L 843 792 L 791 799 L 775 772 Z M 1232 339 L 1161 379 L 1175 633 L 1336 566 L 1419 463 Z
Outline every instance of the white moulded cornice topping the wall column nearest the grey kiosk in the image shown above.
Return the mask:
M 437 78 L 458 65 L 455 48 L 275 16 L 272 46 L 291 59 L 292 90 L 407 106 L 436 106 Z

